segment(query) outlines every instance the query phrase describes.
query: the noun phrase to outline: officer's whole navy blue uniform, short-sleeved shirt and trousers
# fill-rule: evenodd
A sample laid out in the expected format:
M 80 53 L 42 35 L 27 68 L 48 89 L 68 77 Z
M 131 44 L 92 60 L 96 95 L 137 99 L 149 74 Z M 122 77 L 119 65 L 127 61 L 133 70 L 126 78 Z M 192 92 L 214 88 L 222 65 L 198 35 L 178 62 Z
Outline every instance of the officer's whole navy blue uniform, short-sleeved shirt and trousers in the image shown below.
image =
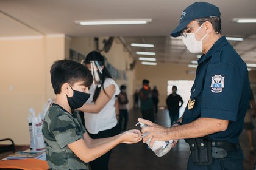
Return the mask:
M 191 97 L 182 124 L 197 118 L 229 120 L 226 131 L 207 135 L 210 141 L 227 141 L 238 146 L 227 157 L 213 158 L 213 169 L 243 169 L 243 151 L 238 137 L 243 130 L 250 87 L 246 63 L 223 36 L 198 60 Z M 208 169 L 188 161 L 188 169 Z

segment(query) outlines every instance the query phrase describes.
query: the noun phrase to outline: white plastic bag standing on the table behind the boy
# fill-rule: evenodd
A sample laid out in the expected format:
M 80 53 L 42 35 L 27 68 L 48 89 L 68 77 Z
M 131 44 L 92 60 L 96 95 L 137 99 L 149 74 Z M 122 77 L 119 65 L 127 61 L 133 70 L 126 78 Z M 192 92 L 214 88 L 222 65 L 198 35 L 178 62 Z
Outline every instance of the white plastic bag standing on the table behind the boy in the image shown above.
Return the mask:
M 43 106 L 43 112 L 35 116 L 35 110 L 33 108 L 29 109 L 30 115 L 27 117 L 29 122 L 29 132 L 30 132 L 30 150 L 32 152 L 43 152 L 45 150 L 45 144 L 43 140 L 43 121 L 44 116 L 49 109 L 49 107 L 54 103 L 54 100 L 48 99 Z

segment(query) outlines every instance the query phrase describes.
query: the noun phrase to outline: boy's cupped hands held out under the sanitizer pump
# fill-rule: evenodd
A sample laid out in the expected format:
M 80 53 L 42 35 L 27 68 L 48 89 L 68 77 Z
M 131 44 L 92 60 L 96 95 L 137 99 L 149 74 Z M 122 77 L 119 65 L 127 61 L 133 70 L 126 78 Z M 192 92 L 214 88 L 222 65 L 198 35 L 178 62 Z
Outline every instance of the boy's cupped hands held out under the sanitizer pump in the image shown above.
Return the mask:
M 142 140 L 141 132 L 138 129 L 129 130 L 121 134 L 121 143 L 131 144 Z

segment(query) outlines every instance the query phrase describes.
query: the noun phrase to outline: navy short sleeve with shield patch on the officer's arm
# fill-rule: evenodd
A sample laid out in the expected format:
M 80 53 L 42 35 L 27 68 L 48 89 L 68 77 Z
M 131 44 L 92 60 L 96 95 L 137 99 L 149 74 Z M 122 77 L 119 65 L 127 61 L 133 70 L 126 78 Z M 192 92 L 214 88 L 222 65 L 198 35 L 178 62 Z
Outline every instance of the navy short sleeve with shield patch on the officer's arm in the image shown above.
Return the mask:
M 236 121 L 244 78 L 227 63 L 209 64 L 202 91 L 201 117 Z

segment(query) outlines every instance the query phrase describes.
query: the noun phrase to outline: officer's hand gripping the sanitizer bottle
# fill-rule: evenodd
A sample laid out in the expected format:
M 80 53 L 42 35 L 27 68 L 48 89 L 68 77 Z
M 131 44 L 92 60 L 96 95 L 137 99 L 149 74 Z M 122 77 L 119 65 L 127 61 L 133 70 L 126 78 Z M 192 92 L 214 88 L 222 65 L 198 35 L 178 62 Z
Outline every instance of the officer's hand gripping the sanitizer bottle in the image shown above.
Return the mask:
M 149 146 L 152 147 L 153 144 L 155 143 L 155 141 L 157 141 L 157 140 L 158 141 L 168 141 L 166 127 L 160 126 L 158 124 L 152 123 L 151 121 L 145 120 L 142 118 L 138 118 L 138 121 L 148 125 L 147 127 L 143 127 L 141 129 L 141 132 L 143 132 L 143 134 L 148 133 L 148 135 L 146 135 L 143 138 L 143 143 L 146 143 L 146 141 L 148 141 L 150 138 L 152 138 L 149 143 Z

